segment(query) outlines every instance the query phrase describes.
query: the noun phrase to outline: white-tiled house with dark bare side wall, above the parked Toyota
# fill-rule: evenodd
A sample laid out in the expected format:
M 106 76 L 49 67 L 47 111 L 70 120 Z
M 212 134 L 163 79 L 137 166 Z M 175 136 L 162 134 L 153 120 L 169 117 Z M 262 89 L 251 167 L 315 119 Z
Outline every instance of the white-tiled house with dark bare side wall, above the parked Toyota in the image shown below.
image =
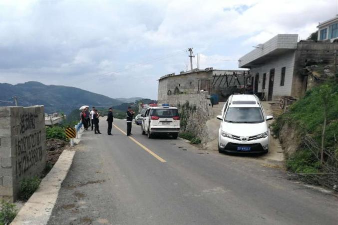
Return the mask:
M 298 42 L 298 34 L 278 34 L 241 57 L 239 67 L 250 69 L 254 93 L 264 100 L 297 98 L 314 79 L 336 75 L 337 50 L 335 42 Z

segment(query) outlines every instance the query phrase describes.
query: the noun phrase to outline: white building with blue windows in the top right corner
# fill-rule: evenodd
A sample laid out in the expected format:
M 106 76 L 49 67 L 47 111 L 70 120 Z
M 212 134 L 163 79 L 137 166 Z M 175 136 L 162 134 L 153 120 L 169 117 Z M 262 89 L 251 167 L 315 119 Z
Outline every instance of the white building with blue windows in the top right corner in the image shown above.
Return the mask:
M 338 15 L 324 22 L 320 22 L 317 28 L 318 40 L 334 41 L 338 38 Z

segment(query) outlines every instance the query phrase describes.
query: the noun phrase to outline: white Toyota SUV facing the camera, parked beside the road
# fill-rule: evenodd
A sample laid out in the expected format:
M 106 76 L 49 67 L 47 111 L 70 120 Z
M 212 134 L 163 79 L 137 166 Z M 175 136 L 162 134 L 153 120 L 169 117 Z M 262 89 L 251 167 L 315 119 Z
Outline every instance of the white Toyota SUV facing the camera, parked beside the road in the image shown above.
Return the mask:
M 270 130 L 256 95 L 231 95 L 224 104 L 218 135 L 219 152 L 267 153 Z

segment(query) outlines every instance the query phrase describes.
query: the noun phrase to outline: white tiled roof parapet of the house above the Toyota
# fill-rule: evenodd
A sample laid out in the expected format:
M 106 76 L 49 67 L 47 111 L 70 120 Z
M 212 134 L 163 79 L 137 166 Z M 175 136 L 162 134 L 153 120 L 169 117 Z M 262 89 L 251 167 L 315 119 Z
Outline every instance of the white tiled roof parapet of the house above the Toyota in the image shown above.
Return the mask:
M 296 49 L 298 42 L 298 34 L 278 34 L 265 42 L 260 44 L 260 48 L 255 48 L 239 59 L 239 67 L 267 55 L 277 49 Z

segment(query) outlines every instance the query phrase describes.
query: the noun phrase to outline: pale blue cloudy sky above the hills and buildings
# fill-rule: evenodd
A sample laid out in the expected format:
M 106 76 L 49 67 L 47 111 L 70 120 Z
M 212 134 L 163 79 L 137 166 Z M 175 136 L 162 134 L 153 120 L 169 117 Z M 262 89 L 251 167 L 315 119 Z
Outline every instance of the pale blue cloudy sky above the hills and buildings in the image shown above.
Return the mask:
M 238 69 L 253 46 L 306 39 L 337 13 L 338 0 L 0 0 L 0 83 L 157 99 L 188 48 L 200 69 Z

